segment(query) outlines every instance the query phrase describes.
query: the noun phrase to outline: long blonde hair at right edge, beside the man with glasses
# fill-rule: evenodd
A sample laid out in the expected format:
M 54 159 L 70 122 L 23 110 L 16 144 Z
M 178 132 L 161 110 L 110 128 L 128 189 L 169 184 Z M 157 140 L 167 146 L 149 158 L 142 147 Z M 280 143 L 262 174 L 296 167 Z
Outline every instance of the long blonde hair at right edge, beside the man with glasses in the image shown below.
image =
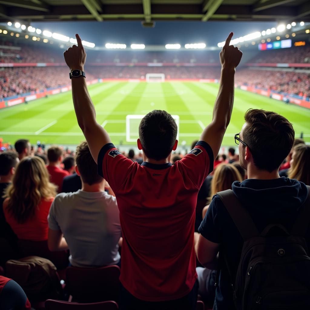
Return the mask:
M 310 145 L 297 144 L 293 148 L 293 162 L 288 177 L 310 185 Z

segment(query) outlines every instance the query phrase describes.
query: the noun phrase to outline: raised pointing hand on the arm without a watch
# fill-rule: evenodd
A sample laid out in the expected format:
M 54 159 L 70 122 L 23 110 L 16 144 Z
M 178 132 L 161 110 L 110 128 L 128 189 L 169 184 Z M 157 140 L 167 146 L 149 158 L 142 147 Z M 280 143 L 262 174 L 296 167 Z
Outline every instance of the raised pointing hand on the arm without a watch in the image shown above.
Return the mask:
M 233 36 L 233 32 L 229 33 L 225 45 L 222 51 L 219 53 L 219 59 L 221 61 L 222 68 L 235 69 L 240 63 L 242 52 L 239 51 L 238 47 L 229 45 Z

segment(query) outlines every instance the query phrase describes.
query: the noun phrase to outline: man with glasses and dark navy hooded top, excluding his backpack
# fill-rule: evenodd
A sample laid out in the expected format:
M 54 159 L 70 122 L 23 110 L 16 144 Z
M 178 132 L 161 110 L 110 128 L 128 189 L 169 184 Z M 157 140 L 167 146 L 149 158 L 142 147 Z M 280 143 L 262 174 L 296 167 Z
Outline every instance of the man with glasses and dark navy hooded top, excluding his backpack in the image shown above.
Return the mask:
M 232 191 L 259 233 L 268 224 L 275 223 L 290 231 L 308 196 L 305 184 L 279 176 L 279 167 L 294 143 L 293 126 L 285 117 L 259 109 L 248 110 L 245 121 L 241 132 L 235 135 L 235 142 L 248 179 L 235 181 Z M 226 264 L 220 263 L 213 309 L 236 309 L 231 284 L 235 284 L 243 239 L 218 195 L 213 197 L 198 231 L 196 253 L 199 261 L 207 268 L 216 269 L 219 248 L 227 260 Z M 305 238 L 309 248 L 309 228 Z

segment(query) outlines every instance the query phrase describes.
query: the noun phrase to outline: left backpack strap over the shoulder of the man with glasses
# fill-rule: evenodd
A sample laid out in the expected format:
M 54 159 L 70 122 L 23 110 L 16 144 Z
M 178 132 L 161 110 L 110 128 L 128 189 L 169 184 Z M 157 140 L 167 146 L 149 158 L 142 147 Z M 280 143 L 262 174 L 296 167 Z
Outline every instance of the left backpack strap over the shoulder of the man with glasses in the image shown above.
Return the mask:
M 259 236 L 259 232 L 250 217 L 249 212 L 241 205 L 231 189 L 219 192 L 217 195 L 223 202 L 244 241 Z

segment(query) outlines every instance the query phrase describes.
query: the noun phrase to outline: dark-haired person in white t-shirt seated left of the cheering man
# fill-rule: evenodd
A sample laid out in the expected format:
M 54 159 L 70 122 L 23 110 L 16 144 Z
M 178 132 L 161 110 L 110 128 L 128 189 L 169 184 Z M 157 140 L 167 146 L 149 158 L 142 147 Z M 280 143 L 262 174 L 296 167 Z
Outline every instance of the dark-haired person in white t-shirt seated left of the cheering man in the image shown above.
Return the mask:
M 86 141 L 78 145 L 75 160 L 82 189 L 55 197 L 48 215 L 48 247 L 69 249 L 74 267 L 119 264 L 121 226 L 116 198 L 105 192 L 105 180 L 97 174 Z

